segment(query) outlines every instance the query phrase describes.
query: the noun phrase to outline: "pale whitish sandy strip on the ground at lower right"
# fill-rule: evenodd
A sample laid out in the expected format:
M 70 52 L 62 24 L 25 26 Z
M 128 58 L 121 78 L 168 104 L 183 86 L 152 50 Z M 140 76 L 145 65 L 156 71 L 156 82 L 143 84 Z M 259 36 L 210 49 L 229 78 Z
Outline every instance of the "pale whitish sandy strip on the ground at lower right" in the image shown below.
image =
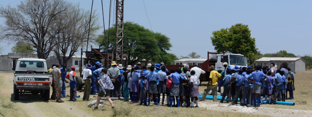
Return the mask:
M 275 109 L 267 107 L 259 107 L 254 109 L 246 106 L 233 106 L 229 104 L 221 104 L 218 102 L 212 101 L 200 101 L 199 107 L 206 108 L 207 110 L 220 110 L 228 112 L 241 112 L 241 113 L 250 113 L 256 115 L 268 115 L 276 117 L 285 117 L 285 116 L 297 116 L 297 117 L 306 117 L 312 116 L 312 111 L 307 110 L 290 110 L 290 109 Z

